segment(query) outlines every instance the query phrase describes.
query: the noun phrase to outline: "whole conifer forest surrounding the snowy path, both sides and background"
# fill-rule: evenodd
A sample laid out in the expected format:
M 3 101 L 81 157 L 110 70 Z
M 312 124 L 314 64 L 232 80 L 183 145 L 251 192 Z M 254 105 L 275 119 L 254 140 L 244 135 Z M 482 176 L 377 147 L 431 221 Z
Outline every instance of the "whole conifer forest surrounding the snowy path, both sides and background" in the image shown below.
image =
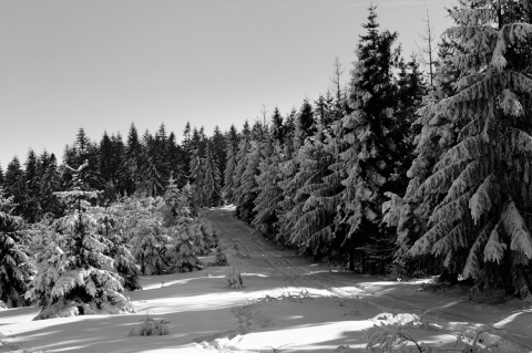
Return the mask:
M 458 0 L 430 60 L 365 11 L 356 62 L 337 59 L 326 93 L 298 108 L 228 131 L 131 124 L 92 141 L 82 126 L 61 156 L 0 166 L 0 308 L 136 313 L 142 278 L 232 264 L 206 219 L 231 205 L 250 241 L 352 277 L 530 300 L 532 2 Z M 415 342 L 386 342 L 399 339 Z M 475 344 L 460 352 L 495 352 Z

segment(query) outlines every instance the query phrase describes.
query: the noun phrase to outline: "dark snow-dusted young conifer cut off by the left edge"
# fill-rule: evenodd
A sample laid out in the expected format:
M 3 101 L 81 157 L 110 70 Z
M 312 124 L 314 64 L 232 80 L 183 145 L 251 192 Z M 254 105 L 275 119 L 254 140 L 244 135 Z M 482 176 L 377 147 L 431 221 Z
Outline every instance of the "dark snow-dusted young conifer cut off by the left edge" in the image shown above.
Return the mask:
M 34 274 L 23 245 L 22 219 L 12 216 L 12 197 L 4 198 L 0 188 L 0 302 L 7 307 L 25 305 L 24 292 Z

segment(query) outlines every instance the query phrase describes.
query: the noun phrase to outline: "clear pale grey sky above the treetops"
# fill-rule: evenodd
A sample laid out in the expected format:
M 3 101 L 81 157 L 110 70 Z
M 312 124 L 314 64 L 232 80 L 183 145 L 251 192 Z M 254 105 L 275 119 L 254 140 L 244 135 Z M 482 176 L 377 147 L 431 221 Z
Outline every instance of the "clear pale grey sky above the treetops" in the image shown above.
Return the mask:
M 369 0 L 0 0 L 0 165 L 29 148 L 61 160 L 83 127 L 125 137 L 187 121 L 239 129 L 263 106 L 299 108 L 348 81 Z M 406 56 L 436 33 L 452 0 L 375 0 Z

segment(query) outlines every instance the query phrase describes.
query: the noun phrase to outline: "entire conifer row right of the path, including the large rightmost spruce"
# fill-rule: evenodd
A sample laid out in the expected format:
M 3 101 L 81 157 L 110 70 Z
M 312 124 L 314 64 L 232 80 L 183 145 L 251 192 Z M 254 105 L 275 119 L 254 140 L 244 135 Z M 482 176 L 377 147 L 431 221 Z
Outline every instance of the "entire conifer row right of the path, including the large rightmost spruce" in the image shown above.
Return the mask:
M 225 195 L 285 247 L 351 270 L 532 290 L 532 7 L 460 1 L 431 85 L 375 8 L 346 91 L 228 146 Z

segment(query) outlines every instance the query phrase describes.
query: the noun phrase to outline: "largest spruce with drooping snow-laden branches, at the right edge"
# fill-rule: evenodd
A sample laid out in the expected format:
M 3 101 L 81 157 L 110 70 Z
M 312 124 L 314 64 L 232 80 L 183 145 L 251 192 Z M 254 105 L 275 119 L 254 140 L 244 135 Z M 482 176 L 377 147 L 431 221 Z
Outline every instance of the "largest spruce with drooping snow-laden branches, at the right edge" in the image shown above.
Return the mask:
M 481 288 L 507 287 L 520 295 L 532 290 L 528 7 L 525 1 L 462 1 L 450 11 L 456 27 L 446 34 L 454 48 L 439 74 L 458 66 L 458 80 L 444 77 L 457 91 L 430 96 L 420 111 L 409 193 L 388 204 L 392 224 L 409 221 L 412 205 L 421 219 L 421 237 L 403 239 L 415 241 L 408 255 L 434 257 L 453 278 L 461 273 Z M 431 160 L 436 165 L 429 169 Z

